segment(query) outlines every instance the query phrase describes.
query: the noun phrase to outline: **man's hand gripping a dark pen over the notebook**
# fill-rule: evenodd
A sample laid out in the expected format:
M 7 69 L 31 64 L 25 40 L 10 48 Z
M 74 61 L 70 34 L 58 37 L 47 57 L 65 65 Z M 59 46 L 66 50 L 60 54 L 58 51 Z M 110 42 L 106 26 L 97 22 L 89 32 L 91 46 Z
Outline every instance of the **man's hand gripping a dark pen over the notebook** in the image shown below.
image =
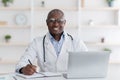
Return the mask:
M 23 69 L 21 70 L 21 72 L 24 75 L 32 75 L 36 72 L 36 66 L 35 65 L 30 65 L 28 64 L 26 67 L 23 67 Z

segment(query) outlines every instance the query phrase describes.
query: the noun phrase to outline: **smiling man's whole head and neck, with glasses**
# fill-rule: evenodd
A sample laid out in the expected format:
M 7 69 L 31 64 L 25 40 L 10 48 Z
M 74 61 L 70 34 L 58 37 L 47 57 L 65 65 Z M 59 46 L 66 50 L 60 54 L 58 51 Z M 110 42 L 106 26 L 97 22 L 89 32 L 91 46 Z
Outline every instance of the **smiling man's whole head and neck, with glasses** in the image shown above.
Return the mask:
M 66 23 L 64 13 L 55 9 L 48 14 L 46 22 L 50 34 L 55 38 L 55 40 L 59 41 Z

